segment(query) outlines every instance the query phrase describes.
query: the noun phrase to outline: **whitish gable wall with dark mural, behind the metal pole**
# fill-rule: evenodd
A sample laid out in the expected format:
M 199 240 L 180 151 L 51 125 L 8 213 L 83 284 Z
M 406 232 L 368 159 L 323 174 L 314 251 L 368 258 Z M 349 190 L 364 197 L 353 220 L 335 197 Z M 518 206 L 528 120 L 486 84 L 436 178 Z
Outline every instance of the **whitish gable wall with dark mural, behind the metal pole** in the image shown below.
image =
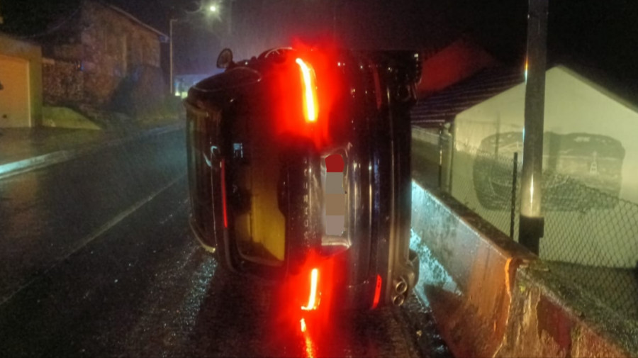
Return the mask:
M 512 182 L 513 153 L 522 161 L 524 119 L 525 84 L 454 119 L 451 194 L 505 233 L 511 194 L 502 188 Z M 636 267 L 635 133 L 638 108 L 566 67 L 547 70 L 542 259 Z

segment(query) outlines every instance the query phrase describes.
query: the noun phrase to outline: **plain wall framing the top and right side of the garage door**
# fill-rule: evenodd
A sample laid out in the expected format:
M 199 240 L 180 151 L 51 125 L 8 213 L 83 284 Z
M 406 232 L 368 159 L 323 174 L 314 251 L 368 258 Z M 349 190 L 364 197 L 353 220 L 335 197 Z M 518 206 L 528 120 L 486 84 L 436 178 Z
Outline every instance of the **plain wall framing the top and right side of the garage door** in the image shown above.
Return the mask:
M 42 50 L 39 45 L 11 38 L 0 33 L 0 55 L 28 61 L 30 123 L 42 123 Z

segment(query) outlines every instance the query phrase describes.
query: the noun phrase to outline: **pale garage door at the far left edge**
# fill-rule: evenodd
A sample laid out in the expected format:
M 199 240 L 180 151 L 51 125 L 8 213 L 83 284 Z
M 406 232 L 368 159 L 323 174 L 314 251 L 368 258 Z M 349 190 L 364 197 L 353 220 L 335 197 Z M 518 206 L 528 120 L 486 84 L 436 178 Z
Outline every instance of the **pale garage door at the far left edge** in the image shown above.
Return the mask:
M 0 127 L 28 127 L 28 61 L 0 55 Z

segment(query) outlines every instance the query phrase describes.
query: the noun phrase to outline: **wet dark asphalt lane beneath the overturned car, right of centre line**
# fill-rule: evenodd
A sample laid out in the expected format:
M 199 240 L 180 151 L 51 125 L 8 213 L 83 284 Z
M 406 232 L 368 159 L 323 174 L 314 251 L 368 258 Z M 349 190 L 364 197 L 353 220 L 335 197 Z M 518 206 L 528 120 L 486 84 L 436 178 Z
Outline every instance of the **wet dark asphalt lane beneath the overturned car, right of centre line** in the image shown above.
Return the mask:
M 157 196 L 50 258 L 0 303 L 0 357 L 449 357 L 414 297 L 402 308 L 334 315 L 320 329 L 308 321 L 302 331 L 279 314 L 276 286 L 218 267 L 198 246 L 186 178 L 163 178 L 151 184 L 166 188 Z M 73 235 L 66 225 L 57 236 Z

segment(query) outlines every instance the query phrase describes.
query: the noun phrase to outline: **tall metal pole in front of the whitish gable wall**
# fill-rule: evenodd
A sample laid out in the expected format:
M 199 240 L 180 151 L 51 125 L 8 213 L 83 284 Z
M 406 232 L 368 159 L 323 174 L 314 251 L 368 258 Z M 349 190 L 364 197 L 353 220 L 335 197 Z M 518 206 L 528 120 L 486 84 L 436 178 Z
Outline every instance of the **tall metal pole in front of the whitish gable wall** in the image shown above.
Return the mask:
M 525 61 L 525 129 L 520 186 L 518 242 L 539 254 L 542 213 L 543 122 L 547 67 L 547 1 L 529 0 Z

